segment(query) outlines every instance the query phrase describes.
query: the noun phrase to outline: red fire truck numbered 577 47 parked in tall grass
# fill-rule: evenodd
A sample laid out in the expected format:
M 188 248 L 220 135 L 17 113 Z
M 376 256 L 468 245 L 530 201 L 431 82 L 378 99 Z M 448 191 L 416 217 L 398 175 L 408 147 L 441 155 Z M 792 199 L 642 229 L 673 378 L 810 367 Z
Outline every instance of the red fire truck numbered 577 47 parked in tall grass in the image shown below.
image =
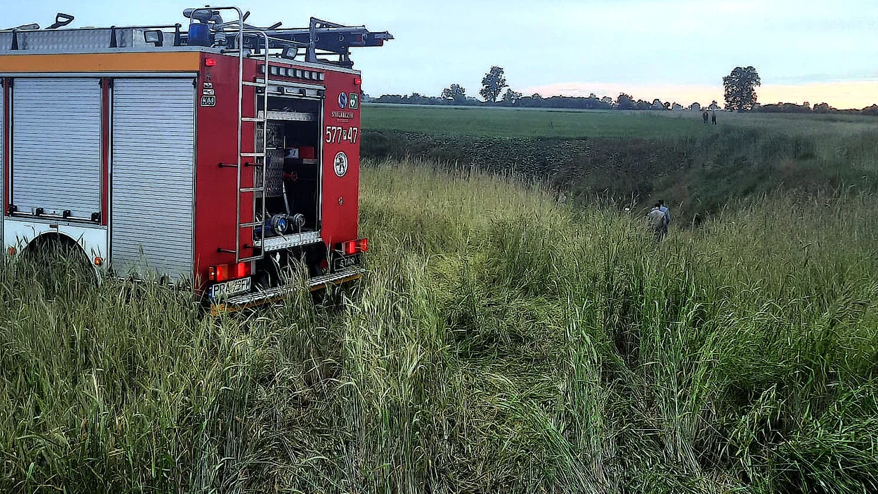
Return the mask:
M 98 272 L 191 283 L 226 308 L 301 275 L 313 290 L 356 279 L 368 240 L 349 54 L 392 35 L 255 27 L 236 7 L 184 17 L 0 31 L 4 248 L 77 246 Z

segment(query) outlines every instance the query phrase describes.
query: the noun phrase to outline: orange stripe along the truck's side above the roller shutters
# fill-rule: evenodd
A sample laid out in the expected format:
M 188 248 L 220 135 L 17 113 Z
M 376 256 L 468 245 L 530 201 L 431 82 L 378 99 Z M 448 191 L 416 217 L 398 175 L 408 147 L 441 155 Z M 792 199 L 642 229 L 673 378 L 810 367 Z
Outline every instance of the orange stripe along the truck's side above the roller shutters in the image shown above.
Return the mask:
M 0 55 L 0 73 L 197 72 L 199 52 Z

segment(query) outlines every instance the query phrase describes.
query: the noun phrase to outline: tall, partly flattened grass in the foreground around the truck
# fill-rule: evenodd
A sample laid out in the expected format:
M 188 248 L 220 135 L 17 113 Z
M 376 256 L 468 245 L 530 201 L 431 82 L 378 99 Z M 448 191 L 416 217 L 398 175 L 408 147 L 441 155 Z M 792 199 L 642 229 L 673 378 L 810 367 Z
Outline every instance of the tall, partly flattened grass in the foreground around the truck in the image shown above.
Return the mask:
M 878 197 L 639 213 L 363 169 L 362 283 L 211 318 L 0 268 L 0 490 L 873 492 Z

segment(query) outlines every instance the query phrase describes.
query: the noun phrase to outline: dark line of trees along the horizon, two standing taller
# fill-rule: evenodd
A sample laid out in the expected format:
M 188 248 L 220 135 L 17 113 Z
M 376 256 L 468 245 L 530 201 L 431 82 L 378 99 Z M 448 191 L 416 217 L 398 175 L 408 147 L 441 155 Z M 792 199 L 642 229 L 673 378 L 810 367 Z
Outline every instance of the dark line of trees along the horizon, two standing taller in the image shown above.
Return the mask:
M 699 103 L 683 106 L 677 102 L 662 101 L 655 98 L 652 101 L 635 99 L 629 94 L 620 93 L 619 96 L 598 97 L 594 93 L 588 97 L 551 96 L 543 97 L 539 93 L 524 96 L 515 91 L 507 84 L 504 69 L 493 66 L 482 78 L 482 87 L 479 96 L 470 97 L 466 89 L 460 84 L 451 84 L 443 89 L 439 96 L 426 96 L 413 92 L 411 95 L 382 95 L 369 97 L 363 95 L 363 101 L 377 104 L 435 104 L 455 106 L 506 106 L 517 108 L 551 108 L 571 110 L 655 110 L 655 111 L 716 111 L 723 110 L 723 106 L 716 100 L 702 106 Z M 766 113 L 859 113 L 863 115 L 878 116 L 878 104 L 867 106 L 860 110 L 839 110 L 830 104 L 820 103 L 813 106 L 804 102 L 759 104 L 757 102 L 756 87 L 761 85 L 759 73 L 752 67 L 734 68 L 730 75 L 723 77 L 723 89 L 725 109 L 730 111 L 759 111 Z M 503 92 L 506 89 L 506 92 Z M 500 96 L 502 95 L 502 97 Z

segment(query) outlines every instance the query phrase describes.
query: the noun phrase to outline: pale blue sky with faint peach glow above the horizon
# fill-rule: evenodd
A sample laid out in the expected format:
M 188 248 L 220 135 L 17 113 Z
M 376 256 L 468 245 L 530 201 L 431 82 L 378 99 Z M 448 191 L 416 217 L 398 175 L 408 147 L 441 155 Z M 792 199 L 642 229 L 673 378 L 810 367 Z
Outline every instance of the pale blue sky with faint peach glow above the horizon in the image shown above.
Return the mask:
M 181 11 L 200 5 L 0 0 L 0 26 L 45 26 L 56 11 L 75 15 L 76 26 L 184 22 Z M 774 89 L 804 84 L 816 93 L 812 103 L 829 94 L 825 90 L 832 84 L 878 81 L 875 0 L 249 0 L 239 5 L 252 11 L 249 21 L 259 25 L 277 20 L 306 25 L 314 15 L 392 32 L 396 39 L 385 47 L 354 54 L 356 68 L 363 70 L 363 89 L 371 95 L 436 95 L 451 83 L 475 95 L 491 65 L 506 68 L 507 81 L 526 93 L 615 96 L 625 90 L 680 103 L 688 103 L 687 97 L 721 97 L 722 76 L 738 65 L 756 67 L 772 96 Z M 852 87 L 862 93 L 864 87 L 878 88 L 878 82 Z M 846 96 L 875 102 L 878 90 Z M 844 95 L 833 97 L 839 101 L 829 103 L 844 104 Z

